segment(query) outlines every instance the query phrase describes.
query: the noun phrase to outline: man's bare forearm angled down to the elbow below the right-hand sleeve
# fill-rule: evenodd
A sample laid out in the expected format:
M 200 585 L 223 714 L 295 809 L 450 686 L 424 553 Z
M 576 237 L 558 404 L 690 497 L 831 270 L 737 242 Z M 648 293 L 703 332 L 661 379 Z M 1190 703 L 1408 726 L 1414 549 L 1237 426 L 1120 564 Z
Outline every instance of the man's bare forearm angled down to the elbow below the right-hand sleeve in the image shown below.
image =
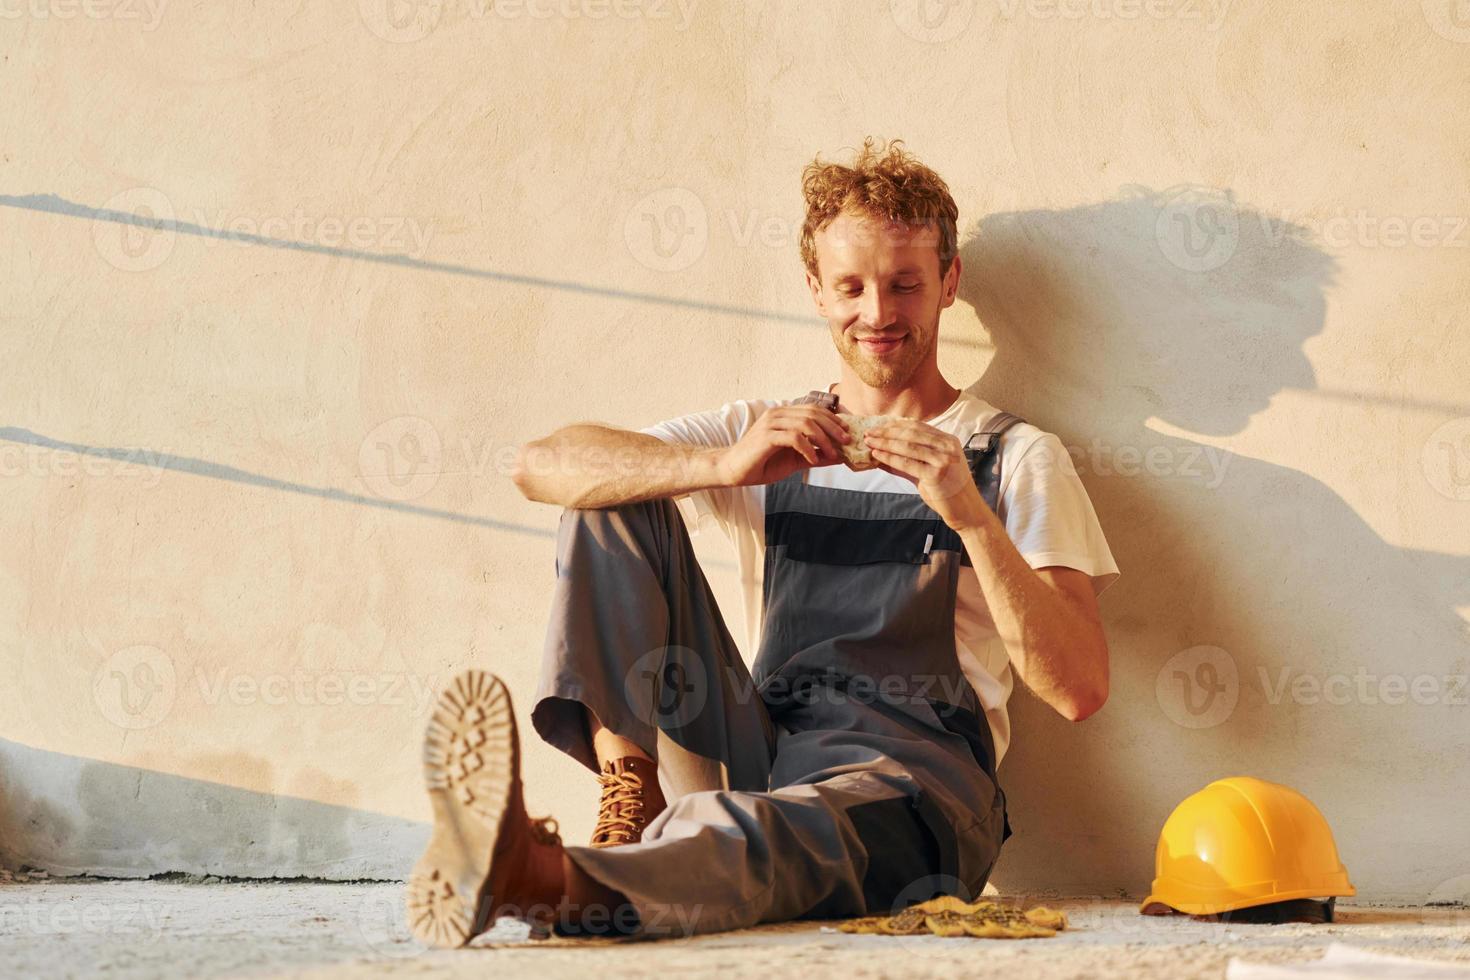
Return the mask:
M 1026 564 L 995 514 L 986 510 L 960 539 L 1020 679 L 1063 717 L 1092 714 L 1108 682 L 1100 626 Z

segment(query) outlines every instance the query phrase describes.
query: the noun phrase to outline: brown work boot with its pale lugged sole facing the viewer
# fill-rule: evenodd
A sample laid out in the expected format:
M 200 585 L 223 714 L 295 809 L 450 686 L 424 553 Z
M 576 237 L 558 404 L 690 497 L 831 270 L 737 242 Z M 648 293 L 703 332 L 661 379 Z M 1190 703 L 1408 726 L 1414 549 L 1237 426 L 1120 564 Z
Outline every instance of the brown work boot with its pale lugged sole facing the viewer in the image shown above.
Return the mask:
M 413 934 L 463 946 L 512 915 L 545 930 L 563 896 L 562 839 L 550 817 L 528 817 L 510 692 L 470 670 L 440 695 L 423 738 L 434 807 L 429 846 L 409 879 Z

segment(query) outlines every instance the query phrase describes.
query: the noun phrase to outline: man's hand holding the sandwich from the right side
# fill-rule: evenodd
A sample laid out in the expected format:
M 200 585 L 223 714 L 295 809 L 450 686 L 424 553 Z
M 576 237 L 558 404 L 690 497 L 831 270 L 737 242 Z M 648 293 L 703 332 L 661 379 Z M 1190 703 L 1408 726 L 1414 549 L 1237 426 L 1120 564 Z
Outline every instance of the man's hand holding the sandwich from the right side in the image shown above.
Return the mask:
M 917 419 L 894 419 L 864 436 L 881 469 L 919 485 L 919 495 L 954 530 L 979 525 L 985 511 L 958 436 Z

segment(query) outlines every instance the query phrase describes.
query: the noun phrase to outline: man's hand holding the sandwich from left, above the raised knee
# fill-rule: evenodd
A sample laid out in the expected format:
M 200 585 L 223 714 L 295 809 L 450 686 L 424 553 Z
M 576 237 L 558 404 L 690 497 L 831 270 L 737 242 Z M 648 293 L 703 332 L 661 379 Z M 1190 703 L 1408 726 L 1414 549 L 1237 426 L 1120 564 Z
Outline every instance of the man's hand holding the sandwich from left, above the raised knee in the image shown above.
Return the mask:
M 719 461 L 725 486 L 775 483 L 797 470 L 842 461 L 838 445 L 851 442 L 836 414 L 814 404 L 769 408 Z

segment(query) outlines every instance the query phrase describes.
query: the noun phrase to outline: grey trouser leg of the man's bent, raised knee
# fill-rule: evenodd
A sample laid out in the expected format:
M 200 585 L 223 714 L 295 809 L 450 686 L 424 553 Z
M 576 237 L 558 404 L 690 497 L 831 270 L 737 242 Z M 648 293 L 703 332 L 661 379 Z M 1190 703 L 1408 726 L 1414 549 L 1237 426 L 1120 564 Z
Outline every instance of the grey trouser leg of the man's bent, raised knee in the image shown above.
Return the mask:
M 764 790 L 775 726 L 672 500 L 566 508 L 531 721 L 597 771 L 588 713 L 659 763 L 664 795 Z

